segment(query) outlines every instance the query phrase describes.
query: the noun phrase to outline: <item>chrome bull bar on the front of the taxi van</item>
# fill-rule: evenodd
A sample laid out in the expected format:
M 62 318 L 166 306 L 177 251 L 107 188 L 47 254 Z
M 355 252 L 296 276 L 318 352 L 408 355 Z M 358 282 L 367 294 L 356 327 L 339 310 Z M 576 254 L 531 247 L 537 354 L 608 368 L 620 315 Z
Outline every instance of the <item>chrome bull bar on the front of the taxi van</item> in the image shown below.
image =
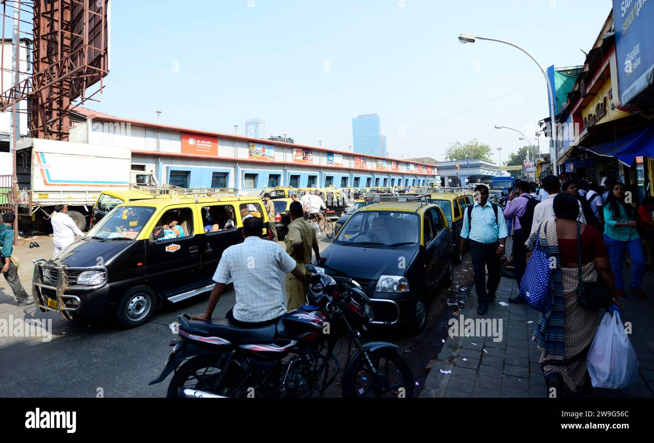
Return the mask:
M 82 307 L 82 300 L 77 295 L 67 294 L 66 292 L 73 289 L 75 291 L 93 291 L 99 287 L 107 284 L 107 268 L 103 266 L 91 267 L 67 267 L 66 265 L 55 266 L 50 265 L 46 259 L 35 259 L 34 274 L 32 276 L 32 297 L 34 303 L 41 310 L 41 312 L 52 311 L 59 312 L 63 320 L 71 320 L 71 313 L 78 311 Z M 52 279 L 52 272 L 57 272 L 56 286 L 45 283 L 44 271 Z M 101 271 L 104 281 L 102 284 L 97 285 L 80 285 L 77 284 L 77 278 L 81 272 L 84 271 Z M 43 289 L 54 291 L 54 299 L 57 302 L 57 307 L 48 304 L 48 295 L 43 293 Z M 69 303 L 64 303 L 68 301 Z

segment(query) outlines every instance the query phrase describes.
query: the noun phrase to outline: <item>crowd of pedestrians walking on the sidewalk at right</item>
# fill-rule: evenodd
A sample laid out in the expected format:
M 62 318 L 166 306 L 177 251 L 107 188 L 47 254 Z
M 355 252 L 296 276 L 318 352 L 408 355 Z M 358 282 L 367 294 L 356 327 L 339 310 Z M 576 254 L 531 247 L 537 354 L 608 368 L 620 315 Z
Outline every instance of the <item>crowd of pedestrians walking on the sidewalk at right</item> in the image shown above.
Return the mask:
M 470 250 L 480 316 L 494 300 L 502 275 L 515 275 L 521 289 L 509 302 L 531 304 L 528 289 L 536 284 L 536 268 L 526 271 L 530 256 L 539 250 L 549 257 L 546 297 L 551 305 L 541 310 L 532 339 L 542 352 L 547 386 L 567 395 L 579 393 L 589 382 L 585 356 L 600 320 L 598 308 L 579 303 L 579 282 L 601 282 L 610 294 L 605 303 L 609 312 L 620 312 L 623 297 L 647 298 L 641 288 L 643 241 L 649 242 L 654 232 L 654 197 L 645 197 L 638 206 L 625 184 L 604 172 L 600 177 L 599 184 L 561 181 L 554 175 L 539 184 L 522 180 L 509 189 L 503 210 L 490 203 L 487 186 L 479 185 L 461 231 L 460 250 Z M 509 270 L 504 245 L 511 235 Z M 623 277 L 625 252 L 632 269 L 630 293 Z

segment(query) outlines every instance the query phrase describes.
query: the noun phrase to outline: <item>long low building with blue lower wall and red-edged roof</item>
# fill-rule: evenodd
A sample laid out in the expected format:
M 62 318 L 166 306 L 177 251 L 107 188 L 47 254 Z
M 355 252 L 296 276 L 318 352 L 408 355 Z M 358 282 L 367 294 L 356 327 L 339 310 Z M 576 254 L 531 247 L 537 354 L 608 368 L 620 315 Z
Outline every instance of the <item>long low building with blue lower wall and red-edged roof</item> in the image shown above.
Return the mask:
M 132 169 L 184 188 L 426 186 L 436 176 L 434 165 L 419 162 L 139 122 L 83 108 L 77 120 L 71 141 L 126 146 Z

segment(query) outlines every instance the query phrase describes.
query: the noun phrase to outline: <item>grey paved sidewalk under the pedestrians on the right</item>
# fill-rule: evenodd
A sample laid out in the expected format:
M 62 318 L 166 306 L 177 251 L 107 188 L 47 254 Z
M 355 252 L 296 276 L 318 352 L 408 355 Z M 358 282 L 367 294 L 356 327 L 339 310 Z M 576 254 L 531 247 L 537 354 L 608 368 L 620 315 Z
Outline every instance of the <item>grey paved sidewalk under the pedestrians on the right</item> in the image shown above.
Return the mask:
M 625 267 L 625 281 L 628 275 Z M 638 384 L 619 391 L 593 388 L 584 397 L 653 397 L 654 275 L 649 268 L 642 287 L 648 300 L 638 299 L 629 291 L 628 298 L 620 299 L 625 310 L 622 320 L 630 321 L 633 327 L 629 338 L 639 360 Z M 465 306 L 453 318 L 463 315 L 466 320 L 501 319 L 502 340 L 495 342 L 488 333 L 485 337 L 472 336 L 474 333 L 448 336 L 425 380 L 421 397 L 547 397 L 538 364 L 540 350 L 531 339 L 540 313 L 528 304 L 509 304 L 509 297 L 517 293 L 516 281 L 502 277 L 494 303 L 487 314 L 478 316 L 477 295 L 470 291 Z M 451 373 L 443 373 L 447 371 Z

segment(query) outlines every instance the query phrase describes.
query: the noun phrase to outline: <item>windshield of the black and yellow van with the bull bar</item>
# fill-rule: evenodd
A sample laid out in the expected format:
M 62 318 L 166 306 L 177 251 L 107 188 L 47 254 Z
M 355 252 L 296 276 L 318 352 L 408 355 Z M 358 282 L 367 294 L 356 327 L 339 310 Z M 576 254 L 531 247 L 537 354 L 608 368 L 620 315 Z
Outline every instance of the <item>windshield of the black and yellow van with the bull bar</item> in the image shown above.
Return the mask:
M 116 206 L 97 225 L 95 225 L 86 237 L 109 240 L 120 238 L 133 240 L 141 229 L 154 214 L 154 208 L 144 206 Z

